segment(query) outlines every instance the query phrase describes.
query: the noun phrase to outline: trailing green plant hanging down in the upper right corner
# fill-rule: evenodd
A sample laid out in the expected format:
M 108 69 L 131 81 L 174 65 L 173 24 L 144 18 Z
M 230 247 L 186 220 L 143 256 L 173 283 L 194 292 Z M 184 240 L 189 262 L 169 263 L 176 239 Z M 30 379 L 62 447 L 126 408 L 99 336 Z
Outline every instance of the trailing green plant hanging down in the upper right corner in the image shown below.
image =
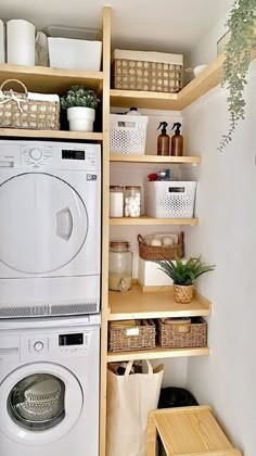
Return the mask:
M 232 140 L 239 121 L 245 117 L 244 88 L 252 52 L 256 50 L 256 0 L 235 0 L 226 25 L 230 39 L 226 46 L 222 86 L 229 90 L 230 125 L 218 147 L 220 152 Z

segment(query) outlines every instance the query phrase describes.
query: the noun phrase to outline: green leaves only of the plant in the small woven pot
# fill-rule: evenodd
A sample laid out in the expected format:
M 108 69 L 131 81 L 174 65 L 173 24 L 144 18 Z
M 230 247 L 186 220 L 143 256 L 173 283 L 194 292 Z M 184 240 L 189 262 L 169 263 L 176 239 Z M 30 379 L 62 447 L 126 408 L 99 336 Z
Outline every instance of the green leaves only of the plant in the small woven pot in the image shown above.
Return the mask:
M 190 258 L 183 263 L 182 259 L 177 258 L 175 262 L 165 259 L 156 262 L 159 269 L 169 276 L 177 286 L 192 286 L 194 281 L 205 273 L 215 269 L 215 266 L 207 266 L 199 258 Z

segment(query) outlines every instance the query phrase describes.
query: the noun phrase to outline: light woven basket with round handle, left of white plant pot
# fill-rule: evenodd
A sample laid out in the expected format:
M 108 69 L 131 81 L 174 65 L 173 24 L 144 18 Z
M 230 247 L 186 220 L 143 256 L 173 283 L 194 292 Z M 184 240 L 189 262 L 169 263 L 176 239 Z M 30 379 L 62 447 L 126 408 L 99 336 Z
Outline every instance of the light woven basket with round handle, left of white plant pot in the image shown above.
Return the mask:
M 9 83 L 23 87 L 24 93 L 4 90 Z M 52 96 L 44 96 L 52 98 Z M 35 99 L 31 99 L 35 98 Z M 17 79 L 7 79 L 0 86 L 0 127 L 27 128 L 33 130 L 60 129 L 60 100 L 36 100 L 36 94 L 29 98 L 26 86 Z M 40 96 L 38 96 L 40 98 Z

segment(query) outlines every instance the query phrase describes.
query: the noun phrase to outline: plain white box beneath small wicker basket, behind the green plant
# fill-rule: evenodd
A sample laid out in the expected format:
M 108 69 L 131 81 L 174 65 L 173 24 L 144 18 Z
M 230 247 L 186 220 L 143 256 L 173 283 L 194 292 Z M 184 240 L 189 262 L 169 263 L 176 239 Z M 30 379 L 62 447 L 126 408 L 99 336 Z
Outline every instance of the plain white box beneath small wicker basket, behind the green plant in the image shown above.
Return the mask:
M 172 280 L 163 270 L 159 270 L 157 263 L 149 262 L 139 257 L 138 281 L 142 287 L 167 287 Z

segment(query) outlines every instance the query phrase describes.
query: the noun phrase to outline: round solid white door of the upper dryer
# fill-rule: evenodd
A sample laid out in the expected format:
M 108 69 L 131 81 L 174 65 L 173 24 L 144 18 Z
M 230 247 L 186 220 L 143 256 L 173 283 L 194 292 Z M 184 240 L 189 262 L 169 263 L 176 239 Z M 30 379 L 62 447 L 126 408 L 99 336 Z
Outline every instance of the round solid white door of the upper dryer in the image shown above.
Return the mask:
M 86 206 L 66 181 L 26 173 L 0 186 L 0 261 L 25 274 L 47 274 L 67 265 L 82 248 Z

